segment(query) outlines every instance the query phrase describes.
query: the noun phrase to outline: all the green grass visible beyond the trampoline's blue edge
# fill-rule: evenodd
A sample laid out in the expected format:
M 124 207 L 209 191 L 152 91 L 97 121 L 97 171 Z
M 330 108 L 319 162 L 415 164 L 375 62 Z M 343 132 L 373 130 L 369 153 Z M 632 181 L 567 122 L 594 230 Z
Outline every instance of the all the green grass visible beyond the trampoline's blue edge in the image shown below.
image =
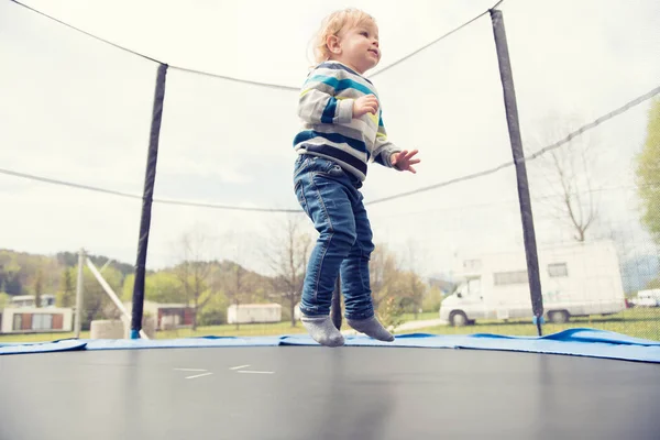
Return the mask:
M 413 315 L 406 315 L 406 320 L 413 320 Z M 419 314 L 418 320 L 436 319 L 438 314 Z M 345 326 L 345 323 L 344 323 Z M 660 341 L 660 308 L 653 309 L 628 309 L 620 314 L 608 317 L 573 318 L 570 322 L 563 324 L 543 324 L 543 334 L 557 333 L 558 331 L 586 327 L 601 330 L 615 331 L 617 333 L 628 334 L 636 338 L 644 338 Z M 348 327 L 343 327 L 348 328 Z M 277 322 L 272 324 L 241 324 L 237 330 L 234 324 L 200 327 L 197 331 L 191 329 L 179 329 L 172 331 L 160 331 L 157 339 L 175 339 L 191 337 L 258 337 L 258 336 L 279 336 L 305 333 L 305 329 L 299 323 L 292 327 L 290 322 Z M 472 334 L 472 333 L 495 333 L 506 336 L 537 336 L 536 326 L 530 320 L 527 321 L 477 321 L 474 326 L 449 327 L 437 326 L 409 330 L 405 333 L 433 333 L 433 334 Z M 58 339 L 74 338 L 74 333 L 38 333 L 38 334 L 1 334 L 0 343 L 3 342 L 42 342 L 54 341 Z M 89 332 L 80 333 L 81 339 L 88 339 Z

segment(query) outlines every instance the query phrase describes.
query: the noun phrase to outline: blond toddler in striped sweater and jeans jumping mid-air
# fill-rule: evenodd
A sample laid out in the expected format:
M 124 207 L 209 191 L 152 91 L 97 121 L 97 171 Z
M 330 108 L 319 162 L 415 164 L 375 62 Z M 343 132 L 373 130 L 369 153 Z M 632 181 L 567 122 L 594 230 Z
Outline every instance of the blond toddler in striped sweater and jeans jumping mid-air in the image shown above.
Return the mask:
M 373 234 L 363 196 L 367 164 L 416 173 L 417 150 L 387 140 L 374 85 L 363 75 L 381 61 L 378 28 L 363 11 L 345 9 L 322 22 L 315 45 L 316 67 L 302 86 L 294 140 L 296 197 L 319 232 L 300 301 L 311 338 L 328 346 L 344 344 L 330 319 L 337 276 L 341 278 L 346 322 L 381 341 L 394 337 L 374 315 L 369 262 Z

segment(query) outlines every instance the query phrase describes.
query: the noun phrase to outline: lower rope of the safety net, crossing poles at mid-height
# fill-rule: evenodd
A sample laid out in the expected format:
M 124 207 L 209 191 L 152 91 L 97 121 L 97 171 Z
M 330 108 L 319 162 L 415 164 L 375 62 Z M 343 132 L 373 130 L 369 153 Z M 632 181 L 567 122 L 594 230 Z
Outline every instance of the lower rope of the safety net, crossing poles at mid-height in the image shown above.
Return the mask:
M 526 157 L 524 161 L 526 161 L 526 162 L 532 161 L 532 160 L 541 156 L 542 154 L 547 153 L 548 151 L 558 148 L 561 145 L 569 143 L 573 138 L 581 135 L 585 131 L 592 130 L 595 127 L 600 125 L 601 123 L 603 123 L 618 114 L 626 112 L 630 108 L 638 106 L 639 103 L 652 98 L 653 96 L 656 96 L 658 94 L 660 94 L 660 86 L 656 87 L 654 89 L 650 90 L 647 94 L 639 96 L 638 98 L 635 98 L 634 100 L 629 101 L 628 103 L 617 108 L 616 110 L 610 111 L 609 113 L 596 119 L 595 121 L 593 121 L 588 124 L 585 124 L 585 125 L 581 127 L 580 129 L 569 133 L 563 140 L 560 140 L 548 146 L 544 146 L 543 148 L 541 148 L 541 150 L 537 151 L 536 153 L 531 154 L 530 156 Z M 477 177 L 483 177 L 483 176 L 487 176 L 491 174 L 495 174 L 501 169 L 513 166 L 514 164 L 515 163 L 513 161 L 506 162 L 506 163 L 501 164 L 493 168 L 488 168 L 488 169 L 484 169 L 484 170 L 481 170 L 477 173 L 473 173 L 473 174 L 457 177 L 453 179 L 444 180 L 444 182 L 441 182 L 441 183 L 438 183 L 435 185 L 430 185 L 430 186 L 426 186 L 422 188 L 418 188 L 418 189 L 415 189 L 411 191 L 400 193 L 400 194 L 397 194 L 394 196 L 384 197 L 381 199 L 376 199 L 376 200 L 366 202 L 365 205 L 382 204 L 384 201 L 389 201 L 389 200 L 394 200 L 394 199 L 402 198 L 402 197 L 413 196 L 413 195 L 416 195 L 416 194 L 419 194 L 422 191 L 441 188 L 441 187 L 457 184 L 460 182 L 472 180 Z M 99 187 L 94 187 L 94 186 L 89 186 L 89 185 L 81 185 L 81 184 L 76 184 L 76 183 L 72 183 L 72 182 L 58 180 L 58 179 L 53 179 L 53 178 L 48 178 L 48 177 L 36 176 L 36 175 L 32 175 L 32 174 L 26 174 L 26 173 L 20 173 L 20 172 L 15 172 L 15 170 L 11 170 L 11 169 L 0 168 L 0 174 L 7 174 L 10 176 L 22 177 L 22 178 L 26 178 L 26 179 L 31 179 L 31 180 L 38 180 L 38 182 L 44 182 L 44 183 L 54 184 L 54 185 L 63 185 L 63 186 L 68 186 L 68 187 L 74 187 L 74 188 L 79 188 L 79 189 L 87 189 L 87 190 L 91 190 L 91 191 L 106 193 L 106 194 L 111 194 L 111 195 L 132 198 L 132 199 L 142 199 L 142 196 L 138 196 L 138 195 L 133 195 L 133 194 L 121 193 L 121 191 L 116 191 L 112 189 L 99 188 Z M 186 201 L 186 200 L 156 199 L 156 198 L 153 199 L 153 202 L 154 204 L 163 204 L 163 205 L 179 205 L 179 206 L 224 209 L 224 210 L 234 210 L 234 211 L 257 211 L 257 212 L 272 212 L 272 213 L 275 213 L 275 212 L 287 212 L 287 213 L 302 212 L 300 209 L 248 208 L 248 207 L 239 207 L 239 206 L 231 206 L 231 205 L 202 204 L 202 202 Z

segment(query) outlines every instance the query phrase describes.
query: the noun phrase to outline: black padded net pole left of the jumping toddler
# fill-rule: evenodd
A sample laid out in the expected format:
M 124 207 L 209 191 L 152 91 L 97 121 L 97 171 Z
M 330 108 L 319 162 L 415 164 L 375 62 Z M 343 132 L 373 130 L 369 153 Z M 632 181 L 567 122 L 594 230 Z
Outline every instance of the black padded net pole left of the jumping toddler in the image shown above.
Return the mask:
M 133 285 L 133 307 L 131 314 L 131 339 L 140 338 L 142 330 L 142 314 L 144 309 L 144 276 L 146 272 L 146 249 L 151 229 L 151 210 L 156 180 L 156 163 L 158 161 L 158 140 L 161 138 L 161 122 L 163 120 L 163 102 L 165 101 L 165 76 L 167 65 L 160 64 L 156 76 L 154 107 L 152 113 L 148 152 L 146 157 L 146 172 L 144 175 L 144 191 L 142 196 L 142 215 L 140 218 L 140 235 L 138 239 L 138 258 L 135 262 L 135 284 Z

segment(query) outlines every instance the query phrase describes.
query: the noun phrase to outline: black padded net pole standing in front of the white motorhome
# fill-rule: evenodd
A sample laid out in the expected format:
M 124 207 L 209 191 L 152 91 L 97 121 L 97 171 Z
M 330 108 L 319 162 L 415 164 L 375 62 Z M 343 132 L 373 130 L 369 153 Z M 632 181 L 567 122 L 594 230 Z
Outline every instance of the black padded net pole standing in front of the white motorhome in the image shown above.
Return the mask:
M 504 29 L 502 11 L 491 9 L 491 21 L 493 22 L 493 34 L 495 47 L 497 48 L 497 62 L 499 64 L 499 77 L 504 89 L 504 105 L 508 124 L 509 139 L 516 165 L 518 182 L 518 200 L 520 204 L 520 216 L 522 218 L 522 234 L 525 238 L 525 254 L 527 256 L 527 276 L 531 296 L 531 308 L 539 336 L 542 334 L 541 322 L 543 317 L 543 297 L 541 295 L 541 280 L 539 276 L 539 260 L 534 230 L 534 217 L 531 215 L 531 200 L 529 197 L 529 185 L 527 183 L 527 167 L 522 140 L 520 138 L 520 124 L 518 121 L 518 108 L 516 103 L 516 90 L 514 88 L 514 76 Z

